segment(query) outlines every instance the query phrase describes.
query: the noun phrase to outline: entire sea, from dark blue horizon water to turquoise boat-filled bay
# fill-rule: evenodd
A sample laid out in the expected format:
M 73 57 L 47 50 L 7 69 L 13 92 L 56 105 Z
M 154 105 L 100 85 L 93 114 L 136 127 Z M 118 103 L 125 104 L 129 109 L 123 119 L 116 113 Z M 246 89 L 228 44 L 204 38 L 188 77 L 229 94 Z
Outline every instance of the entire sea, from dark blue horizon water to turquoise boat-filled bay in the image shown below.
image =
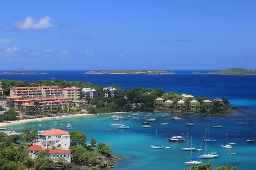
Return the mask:
M 8 71 L 8 70 L 3 70 Z M 2 71 L 2 72 L 3 72 Z M 11 71 L 10 72 L 17 72 Z M 176 74 L 83 74 L 88 70 L 29 70 L 26 72 L 50 73 L 50 74 L 31 74 L 31 75 L 0 75 L 0 79 L 22 80 L 34 82 L 36 80 L 58 80 L 91 82 L 100 86 L 110 86 L 114 84 L 121 88 L 131 90 L 134 87 L 141 88 L 163 88 L 165 92 L 192 94 L 196 98 L 203 95 L 209 98 L 226 98 L 232 106 L 238 107 L 242 113 L 233 115 L 218 116 L 218 123 L 222 128 L 213 128 L 216 124 L 216 116 L 191 114 L 191 120 L 196 122 L 195 126 L 186 126 L 189 121 L 188 113 L 180 113 L 180 120 L 171 120 L 173 113 L 169 113 L 168 118 L 159 118 L 164 113 L 153 114 L 157 121 L 152 123 L 150 128 L 141 128 L 140 120 L 130 118 L 122 122 L 130 126 L 130 129 L 118 129 L 110 127 L 113 123 L 111 115 L 90 115 L 60 117 L 60 121 L 42 121 L 22 123 L 12 125 L 15 131 L 22 131 L 24 128 L 30 130 L 38 128 L 49 129 L 50 125 L 55 127 L 61 123 L 71 123 L 74 128 L 68 129 L 60 126 L 66 131 L 80 130 L 90 139 L 92 136 L 99 142 L 109 145 L 113 154 L 122 156 L 121 160 L 114 163 L 114 169 L 130 170 L 140 169 L 181 169 L 188 168 L 183 164 L 190 158 L 190 152 L 181 150 L 185 143 L 171 143 L 167 139 L 173 135 L 189 133 L 192 137 L 192 144 L 199 149 L 206 128 L 209 128 L 209 136 L 216 139 L 214 143 L 207 143 L 208 151 L 217 151 L 218 158 L 205 159 L 203 162 L 212 162 L 213 166 L 226 166 L 230 162 L 238 169 L 255 169 L 253 153 L 256 152 L 255 143 L 246 143 L 249 138 L 256 139 L 256 76 L 222 76 L 218 74 L 190 74 L 191 72 L 211 72 L 216 70 L 172 70 Z M 97 70 L 98 71 L 98 70 Z M 129 113 L 131 114 L 131 113 Z M 120 114 L 122 115 L 122 114 Z M 142 114 L 140 114 L 141 116 Z M 170 122 L 171 125 L 160 125 L 162 122 Z M 242 123 L 242 124 L 240 124 Z M 7 126 L 8 127 L 8 126 Z M 11 128 L 11 127 L 8 127 Z M 157 143 L 170 147 L 170 149 L 151 149 L 149 146 L 155 143 L 155 131 L 157 133 Z M 94 133 L 92 133 L 94 131 Z M 220 145 L 227 142 L 236 143 L 233 149 L 222 149 Z M 190 138 L 189 137 L 189 138 Z M 201 146 L 204 151 L 204 143 Z M 237 153 L 232 155 L 230 153 Z M 198 151 L 193 151 L 193 157 L 197 156 Z

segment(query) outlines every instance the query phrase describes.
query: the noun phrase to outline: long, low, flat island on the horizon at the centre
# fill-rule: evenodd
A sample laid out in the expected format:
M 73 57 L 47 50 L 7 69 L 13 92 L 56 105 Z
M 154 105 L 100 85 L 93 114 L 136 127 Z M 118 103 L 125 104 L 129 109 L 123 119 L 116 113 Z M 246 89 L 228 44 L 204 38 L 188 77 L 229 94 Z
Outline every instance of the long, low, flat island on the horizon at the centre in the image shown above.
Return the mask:
M 110 70 L 110 71 L 88 71 L 84 74 L 173 74 L 172 71 L 162 71 L 162 70 L 150 70 L 150 69 L 141 69 L 141 70 Z

